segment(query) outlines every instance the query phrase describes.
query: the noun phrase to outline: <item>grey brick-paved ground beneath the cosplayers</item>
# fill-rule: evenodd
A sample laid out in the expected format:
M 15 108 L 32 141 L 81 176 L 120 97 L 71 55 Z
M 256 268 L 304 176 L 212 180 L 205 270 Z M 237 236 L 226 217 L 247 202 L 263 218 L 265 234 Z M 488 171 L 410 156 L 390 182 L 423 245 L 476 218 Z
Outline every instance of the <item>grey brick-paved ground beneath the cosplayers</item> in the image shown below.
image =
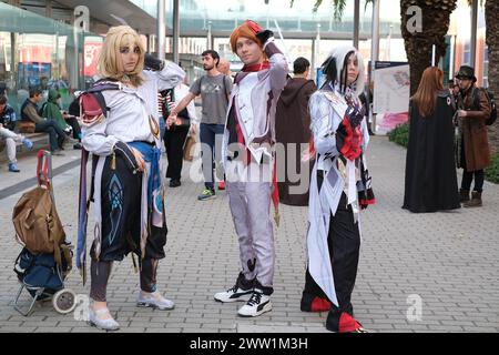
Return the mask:
M 405 155 L 386 138 L 371 140 L 368 164 L 377 204 L 361 216 L 363 246 L 353 294 L 356 317 L 373 332 L 499 332 L 499 186 L 486 183 L 481 209 L 411 214 L 400 209 Z M 55 156 L 54 168 L 78 156 L 75 151 Z M 33 156 L 22 158 L 20 175 L 6 172 L 2 164 L 0 190 L 32 178 L 33 162 Z M 190 169 L 191 164 L 184 166 L 184 176 Z M 58 211 L 73 242 L 78 176 L 74 168 L 54 178 Z M 281 205 L 273 311 L 240 318 L 236 311 L 242 303 L 213 301 L 213 294 L 232 286 L 238 273 L 227 195 L 220 192 L 214 200 L 198 202 L 201 187 L 185 178 L 181 187 L 167 190 L 170 232 L 159 288 L 175 302 L 175 310 L 135 307 L 139 275 L 130 257 L 115 264 L 108 298 L 121 332 L 327 332 L 327 313 L 299 311 L 307 209 Z M 29 317 L 13 310 L 19 284 L 12 267 L 20 245 L 13 239 L 11 212 L 20 194 L 0 200 L 0 332 L 96 332 L 73 314 L 58 314 L 48 302 L 37 305 Z M 65 286 L 82 295 L 89 292 L 77 271 Z M 420 312 L 414 311 L 418 302 Z

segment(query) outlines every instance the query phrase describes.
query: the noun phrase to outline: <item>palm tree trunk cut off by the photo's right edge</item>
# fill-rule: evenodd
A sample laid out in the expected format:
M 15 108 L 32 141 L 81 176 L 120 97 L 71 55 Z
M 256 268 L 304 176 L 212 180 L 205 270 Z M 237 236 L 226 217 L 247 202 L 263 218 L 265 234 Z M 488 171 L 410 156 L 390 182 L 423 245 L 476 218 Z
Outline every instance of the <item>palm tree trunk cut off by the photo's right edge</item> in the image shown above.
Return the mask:
M 486 42 L 489 51 L 489 90 L 499 103 L 499 0 L 486 2 Z M 492 152 L 499 152 L 499 121 L 489 126 L 489 144 Z

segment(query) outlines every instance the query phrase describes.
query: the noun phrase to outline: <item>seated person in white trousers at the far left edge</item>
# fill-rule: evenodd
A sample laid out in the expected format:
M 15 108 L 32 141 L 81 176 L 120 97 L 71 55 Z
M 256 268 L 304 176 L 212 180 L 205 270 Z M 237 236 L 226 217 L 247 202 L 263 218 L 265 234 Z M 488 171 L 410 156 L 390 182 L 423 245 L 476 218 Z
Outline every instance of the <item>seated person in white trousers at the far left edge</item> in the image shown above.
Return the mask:
M 16 159 L 16 142 L 22 142 L 29 150 L 33 148 L 33 143 L 21 134 L 16 134 L 13 132 L 14 126 L 16 111 L 7 104 L 6 97 L 0 97 L 0 140 L 6 141 L 7 158 L 9 159 L 9 171 L 19 173 L 20 170 Z

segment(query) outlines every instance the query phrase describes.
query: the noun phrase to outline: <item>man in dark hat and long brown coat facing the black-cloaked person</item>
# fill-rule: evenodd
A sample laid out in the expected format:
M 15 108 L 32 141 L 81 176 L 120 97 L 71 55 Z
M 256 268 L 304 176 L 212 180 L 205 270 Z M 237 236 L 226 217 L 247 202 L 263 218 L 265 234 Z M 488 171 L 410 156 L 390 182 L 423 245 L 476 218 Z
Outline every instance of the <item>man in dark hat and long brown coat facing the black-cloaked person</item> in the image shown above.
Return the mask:
M 456 78 L 459 79 L 458 97 L 459 135 L 457 142 L 457 164 L 462 168 L 460 189 L 461 202 L 465 207 L 481 206 L 483 189 L 483 169 L 490 163 L 490 150 L 487 138 L 486 119 L 491 106 L 485 90 L 477 88 L 477 78 L 471 67 L 462 65 Z M 471 182 L 475 186 L 471 192 Z

